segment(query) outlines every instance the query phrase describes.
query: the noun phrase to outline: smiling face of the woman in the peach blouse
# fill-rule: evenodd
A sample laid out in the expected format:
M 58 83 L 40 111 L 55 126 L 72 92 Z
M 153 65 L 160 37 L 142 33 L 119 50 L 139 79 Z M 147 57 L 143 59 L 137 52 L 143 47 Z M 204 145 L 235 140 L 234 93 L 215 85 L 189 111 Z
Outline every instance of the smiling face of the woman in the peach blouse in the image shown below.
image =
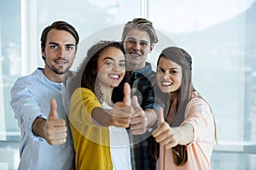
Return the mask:
M 163 93 L 176 92 L 181 87 L 182 67 L 170 59 L 160 57 L 156 81 Z

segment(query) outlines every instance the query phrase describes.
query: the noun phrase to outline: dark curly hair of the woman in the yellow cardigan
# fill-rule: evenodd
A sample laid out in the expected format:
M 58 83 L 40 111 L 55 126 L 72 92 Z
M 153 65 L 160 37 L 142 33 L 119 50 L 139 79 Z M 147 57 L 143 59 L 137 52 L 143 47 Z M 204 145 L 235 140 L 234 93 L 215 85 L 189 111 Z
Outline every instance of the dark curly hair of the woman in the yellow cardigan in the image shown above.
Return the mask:
M 99 85 L 96 83 L 97 77 L 97 62 L 100 55 L 107 48 L 118 48 L 125 54 L 125 49 L 121 42 L 100 41 L 96 42 L 87 52 L 83 62 L 79 65 L 78 71 L 71 79 L 71 87 L 68 90 L 69 97 L 77 88 L 89 88 L 96 94 L 97 99 L 102 102 L 102 92 Z

